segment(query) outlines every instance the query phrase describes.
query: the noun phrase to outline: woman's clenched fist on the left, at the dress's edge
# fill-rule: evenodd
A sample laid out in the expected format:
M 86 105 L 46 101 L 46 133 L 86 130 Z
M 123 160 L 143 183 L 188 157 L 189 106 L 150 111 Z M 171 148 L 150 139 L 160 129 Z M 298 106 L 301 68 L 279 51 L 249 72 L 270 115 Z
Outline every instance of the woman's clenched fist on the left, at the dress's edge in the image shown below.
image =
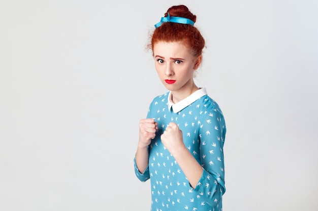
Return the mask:
M 151 143 L 158 130 L 158 123 L 152 118 L 141 119 L 139 123 L 139 143 L 141 147 L 146 147 Z

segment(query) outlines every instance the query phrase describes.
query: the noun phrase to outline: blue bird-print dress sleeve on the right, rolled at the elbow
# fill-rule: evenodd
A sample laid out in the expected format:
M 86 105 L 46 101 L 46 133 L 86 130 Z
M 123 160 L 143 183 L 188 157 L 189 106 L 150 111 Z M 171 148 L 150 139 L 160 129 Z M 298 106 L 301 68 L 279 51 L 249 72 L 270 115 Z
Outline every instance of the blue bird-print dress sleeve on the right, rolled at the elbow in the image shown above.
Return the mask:
M 212 105 L 201 121 L 200 159 L 203 174 L 194 191 L 209 205 L 216 206 L 226 191 L 223 153 L 226 125 L 221 111 Z

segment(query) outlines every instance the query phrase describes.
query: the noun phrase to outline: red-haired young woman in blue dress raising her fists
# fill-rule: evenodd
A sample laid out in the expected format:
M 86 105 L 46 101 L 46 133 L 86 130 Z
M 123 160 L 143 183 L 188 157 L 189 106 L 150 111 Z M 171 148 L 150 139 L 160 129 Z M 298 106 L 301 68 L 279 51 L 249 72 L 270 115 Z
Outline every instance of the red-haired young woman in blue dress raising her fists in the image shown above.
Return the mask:
M 194 82 L 205 41 L 186 6 L 168 9 L 149 44 L 169 90 L 140 120 L 135 173 L 151 181 L 151 210 L 222 210 L 226 124 L 215 101 Z

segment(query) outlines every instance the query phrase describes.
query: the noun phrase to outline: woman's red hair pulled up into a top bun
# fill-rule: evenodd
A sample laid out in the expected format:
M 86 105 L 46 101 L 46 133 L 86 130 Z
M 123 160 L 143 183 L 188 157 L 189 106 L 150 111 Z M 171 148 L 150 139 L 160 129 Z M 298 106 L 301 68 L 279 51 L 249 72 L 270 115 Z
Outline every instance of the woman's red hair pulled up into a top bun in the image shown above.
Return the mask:
M 165 13 L 165 17 L 168 16 L 183 17 L 196 22 L 197 16 L 192 14 L 188 8 L 184 5 L 172 6 Z M 202 49 L 205 46 L 205 40 L 200 31 L 189 24 L 180 24 L 166 22 L 160 27 L 156 28 L 151 36 L 150 48 L 153 52 L 153 46 L 160 42 L 176 42 L 184 41 L 184 44 L 193 50 L 195 56 L 202 54 Z

